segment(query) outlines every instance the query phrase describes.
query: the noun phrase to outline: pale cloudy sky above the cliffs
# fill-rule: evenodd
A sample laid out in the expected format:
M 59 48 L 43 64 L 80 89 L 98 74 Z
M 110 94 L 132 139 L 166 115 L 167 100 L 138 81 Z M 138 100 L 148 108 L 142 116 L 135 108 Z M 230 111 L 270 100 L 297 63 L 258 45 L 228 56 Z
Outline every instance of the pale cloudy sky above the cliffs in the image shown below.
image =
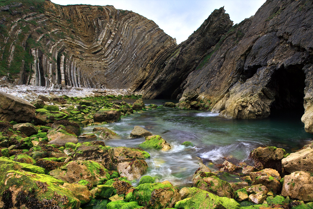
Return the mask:
M 186 40 L 205 19 L 224 6 L 230 19 L 240 23 L 256 13 L 265 0 L 51 0 L 68 4 L 113 5 L 131 10 L 153 20 L 165 33 L 176 38 L 177 44 Z

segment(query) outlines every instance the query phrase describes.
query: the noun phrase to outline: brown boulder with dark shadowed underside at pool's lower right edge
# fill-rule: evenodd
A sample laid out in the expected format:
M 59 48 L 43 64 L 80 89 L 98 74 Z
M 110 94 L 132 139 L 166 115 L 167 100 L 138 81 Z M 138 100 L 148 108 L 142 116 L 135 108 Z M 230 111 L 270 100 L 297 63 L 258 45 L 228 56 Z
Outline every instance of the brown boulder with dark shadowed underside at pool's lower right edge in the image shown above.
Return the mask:
M 263 168 L 272 168 L 282 173 L 281 160 L 286 156 L 285 149 L 277 147 L 258 147 L 252 150 L 250 157 L 255 164 L 261 163 Z

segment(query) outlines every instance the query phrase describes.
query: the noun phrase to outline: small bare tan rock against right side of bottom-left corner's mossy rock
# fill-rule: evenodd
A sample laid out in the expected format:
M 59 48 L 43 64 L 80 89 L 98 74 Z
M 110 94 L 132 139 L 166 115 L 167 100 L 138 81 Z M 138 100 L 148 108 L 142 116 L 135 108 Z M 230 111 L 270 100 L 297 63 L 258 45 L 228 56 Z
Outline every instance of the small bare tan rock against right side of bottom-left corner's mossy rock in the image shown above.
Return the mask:
M 85 204 L 91 200 L 91 193 L 87 186 L 68 183 L 64 183 L 63 186 L 73 193 L 73 195 L 80 201 L 80 204 Z

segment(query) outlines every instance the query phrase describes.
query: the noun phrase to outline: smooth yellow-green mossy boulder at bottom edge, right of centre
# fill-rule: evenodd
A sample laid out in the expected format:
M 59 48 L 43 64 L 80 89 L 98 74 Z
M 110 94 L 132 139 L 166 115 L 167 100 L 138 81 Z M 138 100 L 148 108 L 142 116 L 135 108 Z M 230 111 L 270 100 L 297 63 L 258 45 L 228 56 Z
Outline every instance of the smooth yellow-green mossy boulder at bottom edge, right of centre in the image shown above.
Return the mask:
M 206 208 L 206 209 L 240 209 L 239 203 L 234 199 L 219 197 L 208 191 L 196 187 L 184 187 L 179 191 L 182 197 L 177 201 L 175 208 Z

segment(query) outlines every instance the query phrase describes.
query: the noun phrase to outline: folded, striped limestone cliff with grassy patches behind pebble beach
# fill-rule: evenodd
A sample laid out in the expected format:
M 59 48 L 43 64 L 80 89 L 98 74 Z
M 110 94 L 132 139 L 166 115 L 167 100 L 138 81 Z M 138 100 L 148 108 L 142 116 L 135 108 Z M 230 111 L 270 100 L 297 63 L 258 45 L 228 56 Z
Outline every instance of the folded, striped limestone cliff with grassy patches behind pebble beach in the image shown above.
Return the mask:
M 0 21 L 0 73 L 15 84 L 129 88 L 177 47 L 153 21 L 113 6 L 3 1 Z

